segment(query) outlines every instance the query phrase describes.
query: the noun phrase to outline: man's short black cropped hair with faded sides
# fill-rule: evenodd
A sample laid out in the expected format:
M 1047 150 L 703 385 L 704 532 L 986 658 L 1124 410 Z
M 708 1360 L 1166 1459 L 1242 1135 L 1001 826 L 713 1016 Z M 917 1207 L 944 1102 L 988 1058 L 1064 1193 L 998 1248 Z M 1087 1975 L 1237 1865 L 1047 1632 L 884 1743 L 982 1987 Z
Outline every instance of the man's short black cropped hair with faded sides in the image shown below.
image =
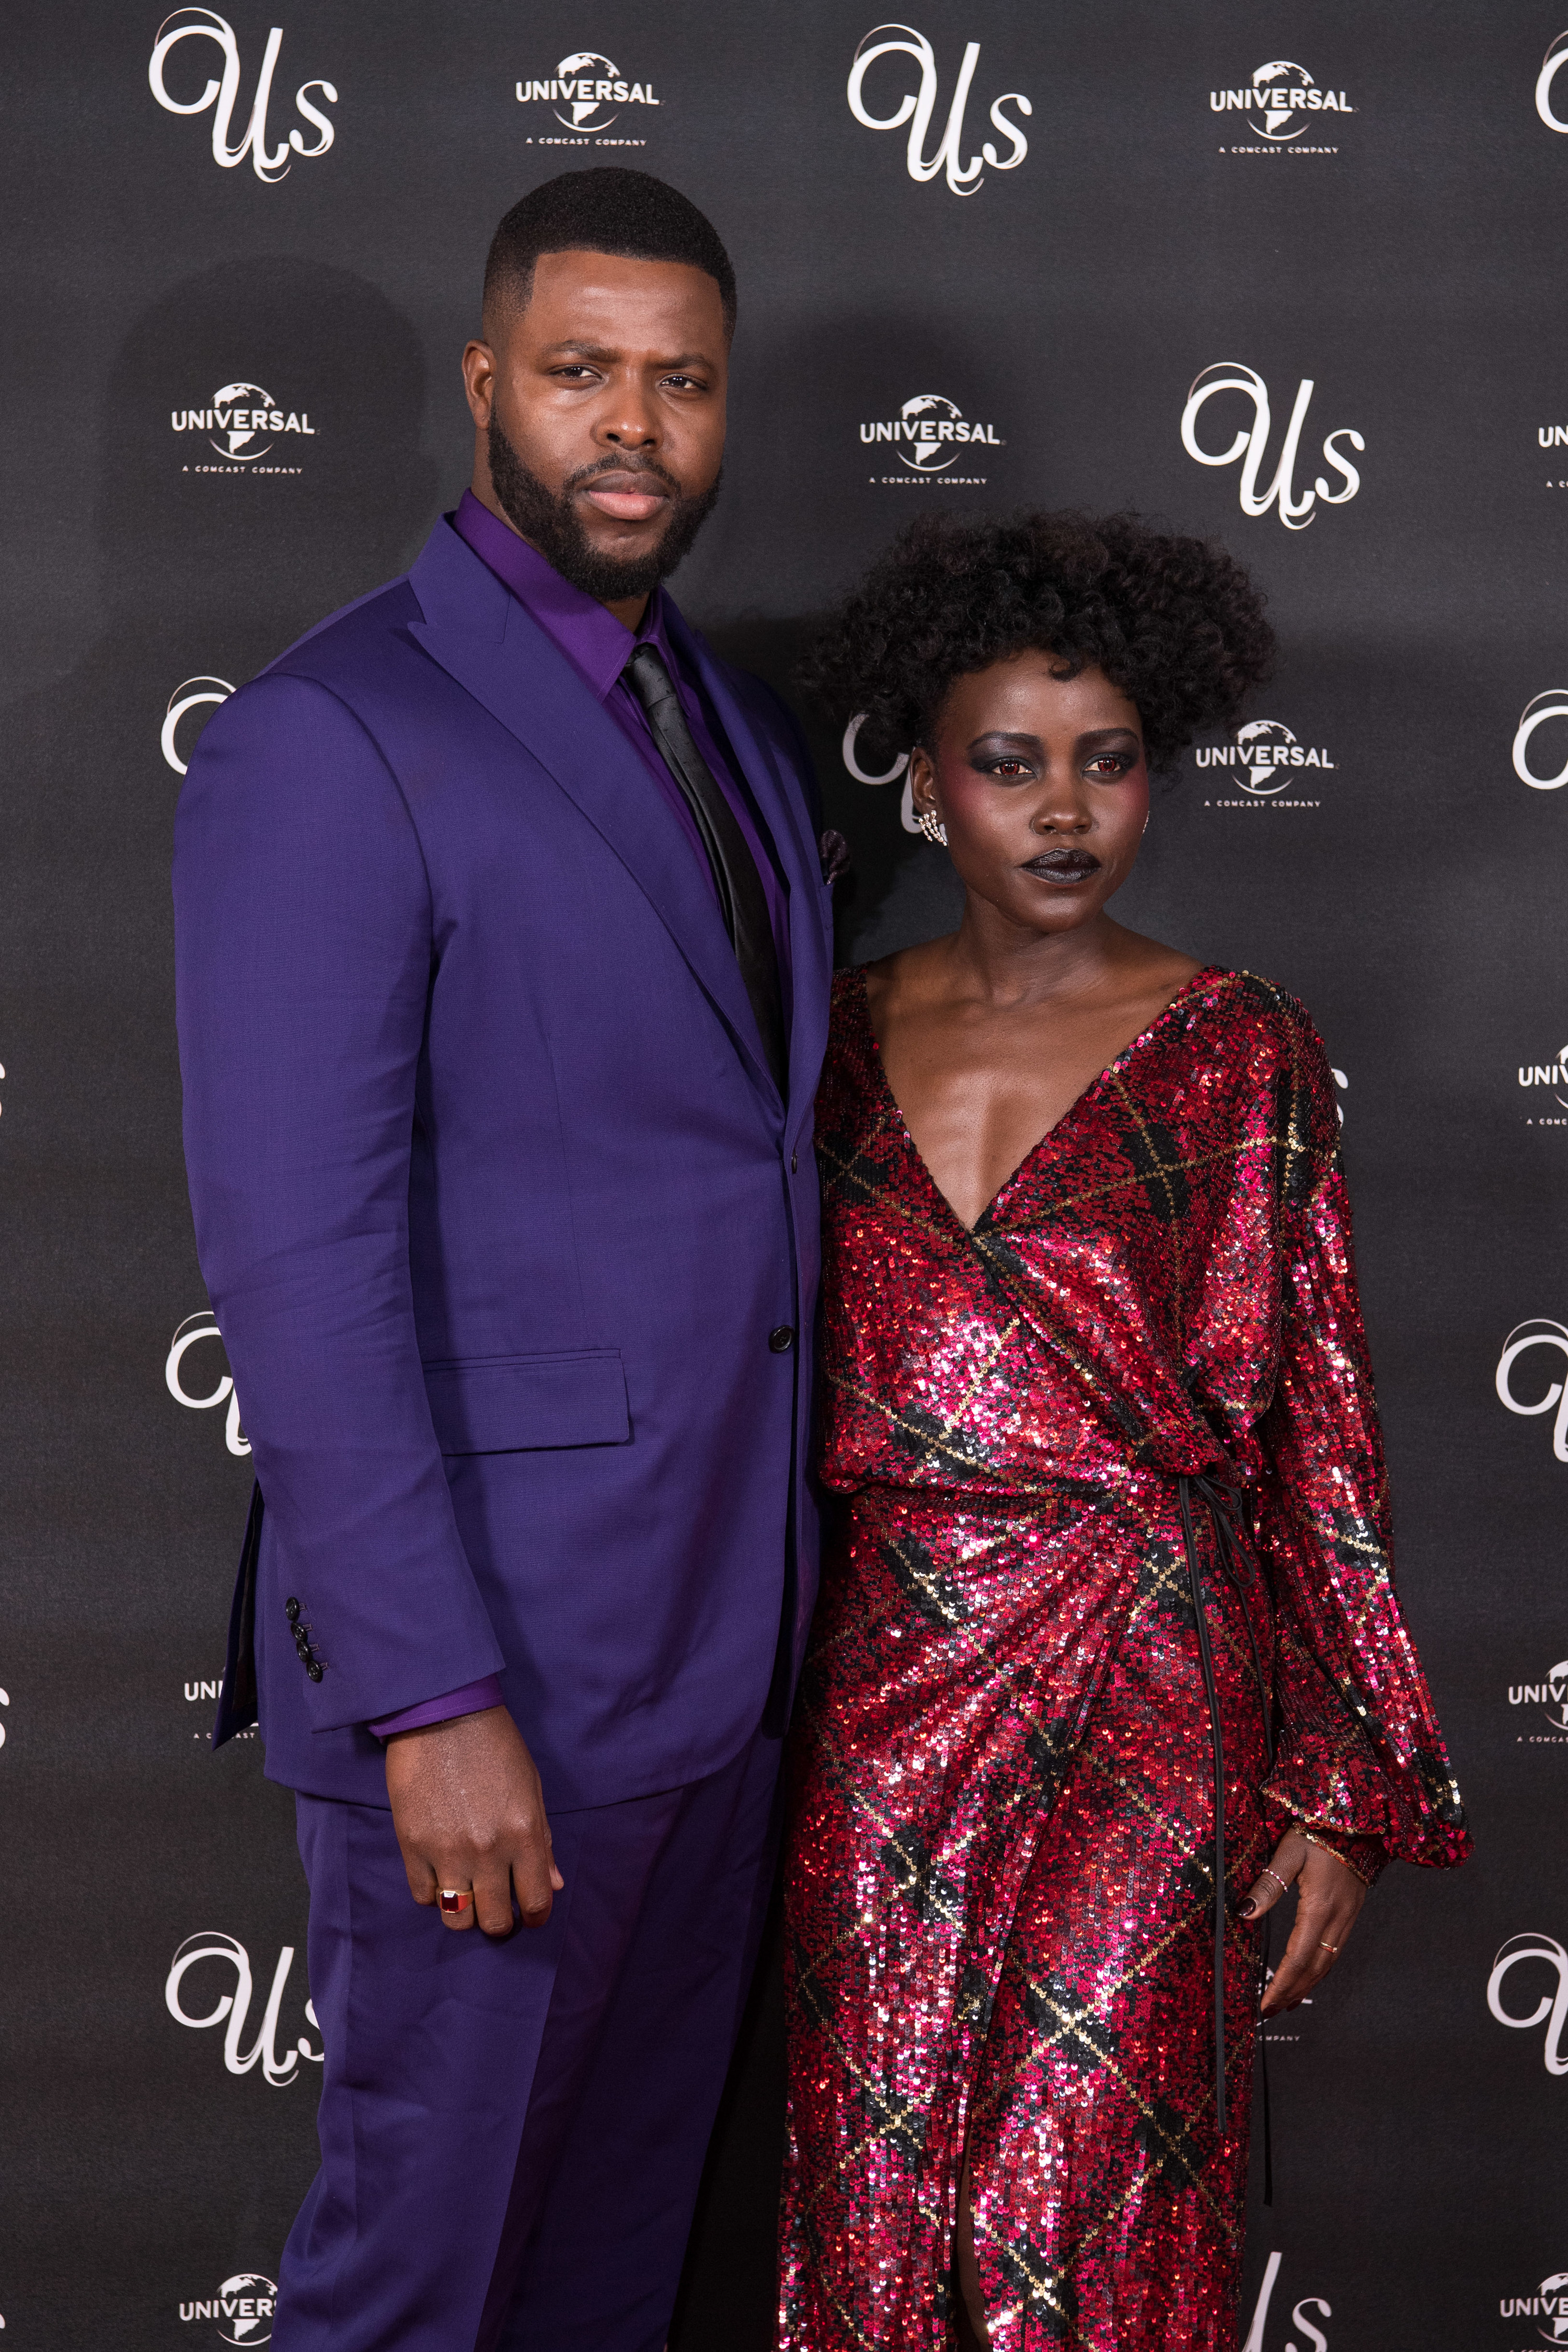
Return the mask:
M 684 261 L 708 270 L 724 303 L 724 334 L 736 332 L 736 273 L 719 233 L 689 195 L 651 172 L 599 165 L 562 172 L 505 214 L 489 240 L 484 318 L 501 303 L 527 303 L 541 254 L 621 254 L 625 261 Z

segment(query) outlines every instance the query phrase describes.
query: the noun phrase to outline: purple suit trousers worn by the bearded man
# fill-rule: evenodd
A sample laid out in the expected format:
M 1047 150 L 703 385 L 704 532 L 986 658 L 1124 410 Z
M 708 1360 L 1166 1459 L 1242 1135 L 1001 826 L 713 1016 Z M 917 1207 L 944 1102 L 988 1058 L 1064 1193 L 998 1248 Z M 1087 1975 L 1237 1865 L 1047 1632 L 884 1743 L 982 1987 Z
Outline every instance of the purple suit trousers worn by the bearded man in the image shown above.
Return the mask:
M 661 2352 L 778 1846 L 778 1750 L 555 1813 L 564 1893 L 491 1943 L 393 1816 L 299 1797 L 322 2169 L 275 2352 Z

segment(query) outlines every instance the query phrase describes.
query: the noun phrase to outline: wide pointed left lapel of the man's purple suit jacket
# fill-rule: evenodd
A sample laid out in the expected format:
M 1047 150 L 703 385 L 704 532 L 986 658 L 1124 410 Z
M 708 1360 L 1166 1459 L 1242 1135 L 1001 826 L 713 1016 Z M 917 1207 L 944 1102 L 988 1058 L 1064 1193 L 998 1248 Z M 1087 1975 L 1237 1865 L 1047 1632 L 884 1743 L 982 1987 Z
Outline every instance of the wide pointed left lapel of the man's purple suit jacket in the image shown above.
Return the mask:
M 517 736 L 609 842 L 724 1016 L 752 1077 L 778 1101 L 712 891 L 597 694 L 449 522 L 435 524 L 409 586 L 425 614 L 409 635 Z

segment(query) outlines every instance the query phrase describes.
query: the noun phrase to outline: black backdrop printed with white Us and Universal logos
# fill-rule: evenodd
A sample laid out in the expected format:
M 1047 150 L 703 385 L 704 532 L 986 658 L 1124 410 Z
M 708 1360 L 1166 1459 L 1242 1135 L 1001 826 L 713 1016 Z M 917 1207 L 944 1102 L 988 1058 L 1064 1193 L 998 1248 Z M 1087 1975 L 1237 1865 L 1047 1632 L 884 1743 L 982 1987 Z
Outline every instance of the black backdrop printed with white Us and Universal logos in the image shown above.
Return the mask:
M 249 1465 L 181 1171 L 176 764 L 456 501 L 487 235 L 595 160 L 675 179 L 738 266 L 729 487 L 677 583 L 733 656 L 788 689 L 811 612 L 931 506 L 1131 503 L 1269 590 L 1269 724 L 1180 762 L 1119 910 L 1298 990 L 1342 1075 L 1401 1585 L 1479 1846 L 1389 1872 L 1272 2034 L 1244 2331 L 1556 2340 L 1554 7 L 919 0 L 870 42 L 903 47 L 860 118 L 924 89 L 882 129 L 849 96 L 875 12 L 842 0 L 226 0 L 162 31 L 188 26 L 153 75 L 158 7 L 12 0 L 0 35 L 7 2345 L 263 2343 L 242 2300 L 315 2164 L 292 1804 L 259 1740 L 205 1740 Z M 856 851 L 842 955 L 940 929 L 898 783 L 811 724 Z M 766 2340 L 766 2079 L 764 2020 L 684 2352 Z

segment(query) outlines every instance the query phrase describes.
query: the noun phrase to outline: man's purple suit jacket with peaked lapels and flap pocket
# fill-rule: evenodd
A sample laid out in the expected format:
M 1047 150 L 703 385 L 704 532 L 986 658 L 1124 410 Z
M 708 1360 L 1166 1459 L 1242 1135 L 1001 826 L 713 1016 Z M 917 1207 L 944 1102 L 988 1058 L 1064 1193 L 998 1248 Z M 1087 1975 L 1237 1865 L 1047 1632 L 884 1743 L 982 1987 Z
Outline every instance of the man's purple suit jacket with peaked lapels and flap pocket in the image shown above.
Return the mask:
M 451 524 L 190 762 L 186 1162 L 292 1788 L 386 1804 L 364 1726 L 498 1672 L 545 1802 L 609 1804 L 741 1750 L 780 1611 L 799 1665 L 830 896 L 788 713 L 670 626 L 790 884 L 788 1103 L 642 757 Z

